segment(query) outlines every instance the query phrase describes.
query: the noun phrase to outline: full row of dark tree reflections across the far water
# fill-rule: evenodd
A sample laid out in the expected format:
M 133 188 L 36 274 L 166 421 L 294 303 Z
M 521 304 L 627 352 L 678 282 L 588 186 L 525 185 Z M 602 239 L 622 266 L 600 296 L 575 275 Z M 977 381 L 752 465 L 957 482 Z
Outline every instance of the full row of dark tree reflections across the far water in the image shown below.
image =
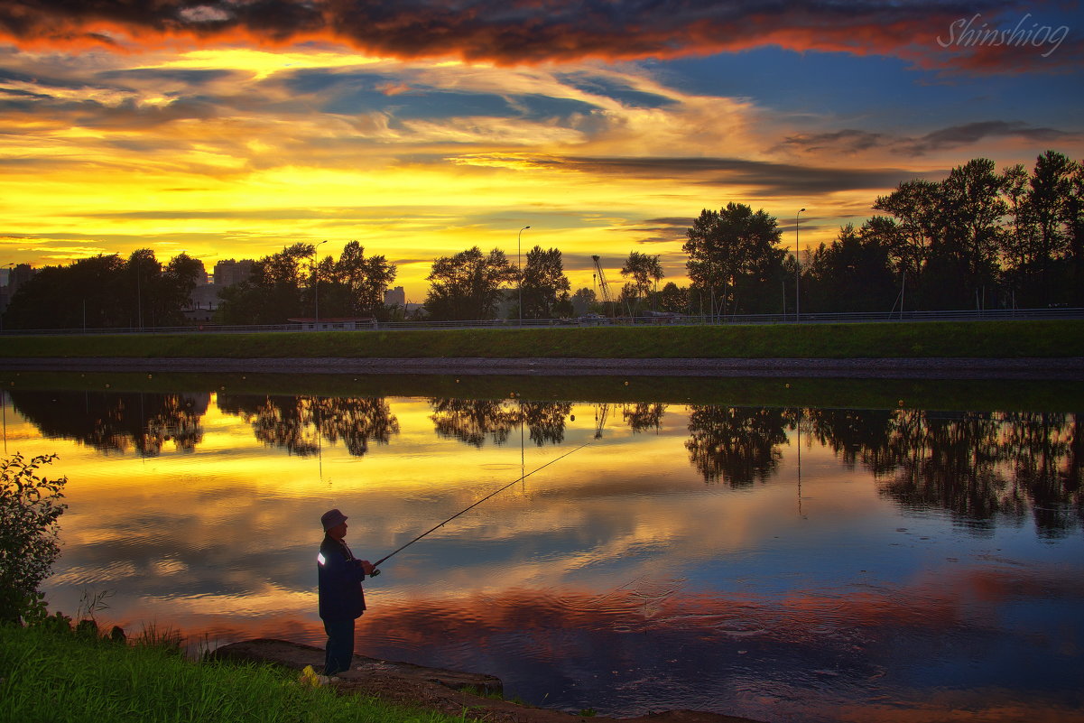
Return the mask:
M 203 443 L 209 396 L 12 388 L 15 410 L 43 435 L 76 439 L 102 452 L 159 454 L 166 443 Z M 321 443 L 343 443 L 354 456 L 390 444 L 400 425 L 384 397 L 219 393 L 227 414 L 254 437 L 289 454 L 314 455 Z M 57 400 L 60 403 L 57 403 Z M 428 398 L 434 431 L 482 448 L 518 439 L 526 428 L 538 447 L 562 444 L 573 405 L 568 401 Z M 599 434 L 610 406 L 633 431 L 658 430 L 660 402 L 596 405 Z M 598 418 L 604 422 L 598 423 Z M 1084 525 L 1084 414 L 944 412 L 688 405 L 689 464 L 709 485 L 735 489 L 779 474 L 790 432 L 831 450 L 848 469 L 861 466 L 878 490 L 908 508 L 946 509 L 992 527 L 1031 515 L 1042 534 L 1063 537 Z

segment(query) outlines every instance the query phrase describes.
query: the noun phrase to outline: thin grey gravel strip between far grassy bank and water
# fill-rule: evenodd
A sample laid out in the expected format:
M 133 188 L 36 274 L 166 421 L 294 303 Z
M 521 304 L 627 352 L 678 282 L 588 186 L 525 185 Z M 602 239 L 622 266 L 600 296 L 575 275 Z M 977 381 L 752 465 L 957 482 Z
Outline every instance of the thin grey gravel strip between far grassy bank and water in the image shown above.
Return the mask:
M 465 374 L 550 376 L 778 376 L 1084 380 L 1084 358 L 1023 359 L 0 359 L 5 371 Z

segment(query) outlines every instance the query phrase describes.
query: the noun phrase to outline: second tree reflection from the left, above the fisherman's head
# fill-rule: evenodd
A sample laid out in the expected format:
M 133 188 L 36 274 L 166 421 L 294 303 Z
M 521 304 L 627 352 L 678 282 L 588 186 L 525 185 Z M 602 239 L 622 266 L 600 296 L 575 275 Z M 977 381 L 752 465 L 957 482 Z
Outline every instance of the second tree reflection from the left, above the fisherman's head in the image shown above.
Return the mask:
M 268 397 L 219 395 L 218 406 L 242 417 L 256 439 L 291 454 L 315 454 L 320 446 L 343 442 L 362 456 L 370 442 L 387 444 L 399 421 L 383 397 Z

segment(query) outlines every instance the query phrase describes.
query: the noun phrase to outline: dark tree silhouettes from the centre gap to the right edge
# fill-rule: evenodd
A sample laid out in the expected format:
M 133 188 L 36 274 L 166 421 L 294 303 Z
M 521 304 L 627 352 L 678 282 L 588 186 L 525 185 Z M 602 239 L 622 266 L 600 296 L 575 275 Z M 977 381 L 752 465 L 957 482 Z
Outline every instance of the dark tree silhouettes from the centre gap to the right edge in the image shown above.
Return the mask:
M 682 246 L 689 285 L 659 289 L 660 256 L 632 251 L 608 305 L 593 288 L 569 295 L 558 249 L 535 246 L 520 275 L 500 249 L 474 247 L 434 262 L 425 307 L 438 320 L 494 319 L 517 283 L 509 319 L 520 298 L 524 319 L 1084 307 L 1084 164 L 1064 154 L 1047 151 L 1031 171 L 976 158 L 942 181 L 903 182 L 873 208 L 883 215 L 842 227 L 800 262 L 763 209 L 704 209 Z

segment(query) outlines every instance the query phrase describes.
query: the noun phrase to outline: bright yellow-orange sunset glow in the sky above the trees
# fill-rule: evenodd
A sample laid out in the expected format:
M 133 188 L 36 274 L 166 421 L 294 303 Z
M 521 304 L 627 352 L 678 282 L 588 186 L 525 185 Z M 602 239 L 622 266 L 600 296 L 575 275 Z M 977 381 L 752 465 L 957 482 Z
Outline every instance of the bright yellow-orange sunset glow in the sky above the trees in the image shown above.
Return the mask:
M 593 286 L 593 255 L 619 286 L 632 250 L 660 254 L 662 283 L 686 284 L 682 229 L 660 234 L 653 220 L 672 223 L 736 202 L 790 229 L 791 211 L 805 207 L 804 250 L 830 243 L 841 222 L 861 224 L 876 196 L 792 198 L 722 170 L 691 164 L 685 172 L 682 159 L 801 159 L 769 150 L 780 121 L 754 101 L 682 91 L 635 64 L 585 63 L 577 73 L 657 102 L 570 81 L 567 68 L 382 59 L 335 46 L 159 49 L 100 53 L 94 62 L 132 75 L 116 87 L 0 83 L 0 92 L 104 108 L 91 122 L 28 113 L 8 120 L 15 131 L 0 137 L 0 160 L 16 163 L 0 177 L 9 230 L 2 261 L 40 266 L 141 247 L 162 260 L 181 249 L 257 259 L 325 240 L 334 256 L 358 241 L 396 263 L 395 284 L 421 302 L 435 258 L 477 245 L 515 259 L 516 231 L 530 225 L 522 250 L 562 250 L 573 291 Z M 179 69 L 222 73 L 192 80 L 170 73 Z M 341 89 L 323 95 L 294 75 L 319 69 Z M 388 101 L 335 106 L 340 93 L 354 92 Z M 425 112 L 400 115 L 397 99 L 418 96 Z M 460 98 L 492 100 L 457 109 Z M 790 250 L 793 241 L 784 233 L 780 247 Z

